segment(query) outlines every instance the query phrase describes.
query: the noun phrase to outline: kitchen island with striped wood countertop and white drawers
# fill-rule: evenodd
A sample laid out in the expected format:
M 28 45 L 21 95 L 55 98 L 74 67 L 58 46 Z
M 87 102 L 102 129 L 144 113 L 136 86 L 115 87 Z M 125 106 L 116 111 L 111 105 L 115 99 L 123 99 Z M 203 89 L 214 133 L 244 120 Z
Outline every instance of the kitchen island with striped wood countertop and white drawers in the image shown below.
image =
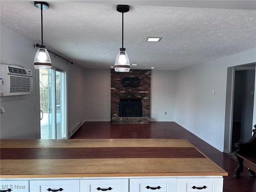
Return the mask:
M 4 189 L 8 182 L 24 181 L 31 192 L 45 191 L 41 185 L 48 191 L 68 185 L 65 192 L 216 192 L 228 175 L 185 139 L 1 140 L 0 145 Z

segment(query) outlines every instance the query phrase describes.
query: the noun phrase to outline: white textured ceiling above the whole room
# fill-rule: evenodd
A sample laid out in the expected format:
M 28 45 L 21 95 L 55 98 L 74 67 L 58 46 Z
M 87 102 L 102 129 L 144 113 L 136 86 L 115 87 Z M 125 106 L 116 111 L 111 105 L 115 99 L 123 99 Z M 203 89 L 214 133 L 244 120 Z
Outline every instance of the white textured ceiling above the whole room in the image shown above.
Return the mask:
M 133 69 L 177 70 L 256 48 L 256 1 L 50 0 L 43 10 L 44 45 L 84 68 L 114 66 L 122 47 Z M 1 24 L 41 44 L 33 1 L 1 0 Z M 162 37 L 146 42 L 147 37 Z

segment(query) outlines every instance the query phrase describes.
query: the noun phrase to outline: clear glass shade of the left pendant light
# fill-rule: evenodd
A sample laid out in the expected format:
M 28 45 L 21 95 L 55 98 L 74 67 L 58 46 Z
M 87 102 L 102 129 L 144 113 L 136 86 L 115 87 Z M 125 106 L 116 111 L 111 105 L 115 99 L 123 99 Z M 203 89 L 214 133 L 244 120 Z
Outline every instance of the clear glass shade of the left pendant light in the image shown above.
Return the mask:
M 34 60 L 35 69 L 50 69 L 52 62 L 48 51 L 45 48 L 39 48 Z

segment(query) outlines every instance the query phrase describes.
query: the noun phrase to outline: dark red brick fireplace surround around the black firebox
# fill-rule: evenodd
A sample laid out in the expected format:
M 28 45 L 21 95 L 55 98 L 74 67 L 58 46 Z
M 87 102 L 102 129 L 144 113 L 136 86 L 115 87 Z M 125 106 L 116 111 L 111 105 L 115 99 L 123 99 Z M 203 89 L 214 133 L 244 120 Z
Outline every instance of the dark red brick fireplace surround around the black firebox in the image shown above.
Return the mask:
M 151 70 L 111 70 L 111 121 L 112 123 L 149 123 Z M 120 116 L 121 100 L 140 100 L 141 116 Z

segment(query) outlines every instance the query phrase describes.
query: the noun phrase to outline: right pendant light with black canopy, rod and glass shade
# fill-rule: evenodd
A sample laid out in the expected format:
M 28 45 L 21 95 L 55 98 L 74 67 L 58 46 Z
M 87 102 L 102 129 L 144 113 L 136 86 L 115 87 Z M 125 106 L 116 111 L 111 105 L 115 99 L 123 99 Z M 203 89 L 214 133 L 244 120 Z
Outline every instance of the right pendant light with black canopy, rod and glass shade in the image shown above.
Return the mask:
M 130 62 L 124 48 L 124 13 L 128 12 L 130 10 L 130 7 L 128 5 L 117 5 L 116 10 L 122 13 L 122 48 L 120 48 L 120 52 L 116 57 L 115 71 L 129 72 Z

